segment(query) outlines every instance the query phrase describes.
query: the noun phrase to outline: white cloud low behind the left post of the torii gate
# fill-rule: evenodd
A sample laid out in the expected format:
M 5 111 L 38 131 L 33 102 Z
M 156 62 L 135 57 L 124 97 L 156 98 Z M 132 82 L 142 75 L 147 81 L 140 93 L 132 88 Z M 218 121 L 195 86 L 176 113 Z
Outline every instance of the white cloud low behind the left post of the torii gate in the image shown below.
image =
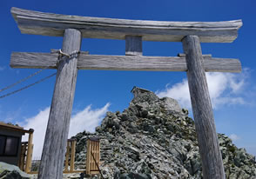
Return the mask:
M 84 131 L 95 131 L 95 128 L 103 119 L 105 113 L 107 112 L 110 103 L 106 103 L 101 109 L 91 109 L 91 105 L 87 106 L 81 111 L 78 111 L 74 116 L 71 116 L 71 125 L 69 131 L 69 137 L 75 136 L 78 132 Z M 24 129 L 35 129 L 33 136 L 33 158 L 41 158 L 44 136 L 47 127 L 48 117 L 50 108 L 41 110 L 36 116 L 30 117 L 21 123 Z M 23 138 L 24 141 L 28 140 L 28 136 Z

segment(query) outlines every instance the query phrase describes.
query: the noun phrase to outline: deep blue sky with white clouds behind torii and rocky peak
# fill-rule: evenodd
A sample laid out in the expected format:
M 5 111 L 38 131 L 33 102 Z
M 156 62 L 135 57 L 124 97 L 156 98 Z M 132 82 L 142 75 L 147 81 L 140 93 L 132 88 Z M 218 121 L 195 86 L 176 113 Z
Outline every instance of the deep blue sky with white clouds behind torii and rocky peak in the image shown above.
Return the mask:
M 50 52 L 51 49 L 60 49 L 63 40 L 62 37 L 21 34 L 10 14 L 11 7 L 86 17 L 156 21 L 242 19 L 244 24 L 233 43 L 202 43 L 202 51 L 203 54 L 239 58 L 241 61 L 242 73 L 207 73 L 207 80 L 217 131 L 231 136 L 239 148 L 246 148 L 249 153 L 256 155 L 255 1 L 1 1 L 0 88 L 37 71 L 11 69 L 11 51 Z M 89 50 L 90 54 L 125 55 L 125 41 L 84 39 L 82 50 Z M 145 56 L 177 56 L 182 52 L 181 43 L 143 42 Z M 14 89 L 33 83 L 54 71 L 44 70 Z M 130 91 L 133 86 L 150 89 L 157 92 L 158 96 L 172 96 L 179 100 L 182 107 L 191 111 L 185 79 L 185 72 L 79 70 L 70 136 L 83 129 L 93 131 L 107 110 L 123 111 L 131 101 Z M 43 143 L 43 126 L 47 123 L 54 83 L 55 77 L 52 77 L 30 89 L 0 99 L 0 121 L 20 123 L 25 128 L 36 129 L 34 142 L 37 145 Z M 10 91 L 1 92 L 0 95 Z

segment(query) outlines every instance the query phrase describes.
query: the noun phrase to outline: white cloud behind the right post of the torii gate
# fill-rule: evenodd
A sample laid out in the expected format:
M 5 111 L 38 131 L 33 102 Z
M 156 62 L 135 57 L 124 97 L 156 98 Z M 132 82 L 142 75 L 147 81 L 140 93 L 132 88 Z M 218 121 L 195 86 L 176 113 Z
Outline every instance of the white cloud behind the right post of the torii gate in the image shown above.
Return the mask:
M 217 109 L 225 104 L 244 104 L 245 100 L 239 94 L 245 87 L 247 70 L 239 75 L 231 73 L 206 73 L 212 107 Z M 191 109 L 191 100 L 187 80 L 167 85 L 164 90 L 156 92 L 159 97 L 169 96 L 177 99 L 182 107 Z

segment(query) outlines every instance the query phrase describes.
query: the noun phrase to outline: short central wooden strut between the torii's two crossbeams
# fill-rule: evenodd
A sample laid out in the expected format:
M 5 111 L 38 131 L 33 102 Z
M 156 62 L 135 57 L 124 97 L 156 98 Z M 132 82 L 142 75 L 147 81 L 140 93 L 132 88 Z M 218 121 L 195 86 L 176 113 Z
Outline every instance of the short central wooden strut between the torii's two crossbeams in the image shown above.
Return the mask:
M 142 36 L 125 36 L 125 56 L 142 56 Z

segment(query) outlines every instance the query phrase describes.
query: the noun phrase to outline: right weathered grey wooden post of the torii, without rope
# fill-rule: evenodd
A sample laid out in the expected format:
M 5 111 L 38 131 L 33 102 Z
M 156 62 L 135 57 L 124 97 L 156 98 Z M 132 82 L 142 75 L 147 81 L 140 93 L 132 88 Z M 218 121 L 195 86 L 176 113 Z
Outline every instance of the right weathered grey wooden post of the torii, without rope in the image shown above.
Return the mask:
M 203 177 L 205 179 L 225 179 L 199 36 L 185 36 L 182 42 L 186 55 L 185 60 L 188 69 L 186 74 L 199 141 Z

